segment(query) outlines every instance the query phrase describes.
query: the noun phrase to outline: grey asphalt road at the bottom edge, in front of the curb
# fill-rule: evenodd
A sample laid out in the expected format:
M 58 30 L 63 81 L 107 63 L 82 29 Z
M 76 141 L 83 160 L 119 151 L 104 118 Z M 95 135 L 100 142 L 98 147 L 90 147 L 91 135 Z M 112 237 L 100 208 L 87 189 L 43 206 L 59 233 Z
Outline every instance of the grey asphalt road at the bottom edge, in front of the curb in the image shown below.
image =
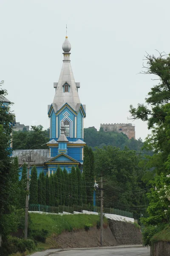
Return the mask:
M 51 256 L 150 256 L 150 250 L 146 247 L 119 248 L 119 249 L 91 249 L 91 250 L 68 250 Z

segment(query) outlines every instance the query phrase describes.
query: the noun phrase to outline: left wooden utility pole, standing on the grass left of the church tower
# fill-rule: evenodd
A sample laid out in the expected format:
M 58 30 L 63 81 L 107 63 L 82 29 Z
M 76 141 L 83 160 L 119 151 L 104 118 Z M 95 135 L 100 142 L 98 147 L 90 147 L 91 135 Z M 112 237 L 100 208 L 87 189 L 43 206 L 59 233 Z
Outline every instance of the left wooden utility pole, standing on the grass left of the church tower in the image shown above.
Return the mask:
M 27 167 L 27 186 L 26 186 L 26 217 L 25 217 L 25 232 L 24 238 L 27 239 L 28 233 L 28 199 L 29 199 L 29 172 L 30 172 L 30 157 L 28 159 L 28 167 Z

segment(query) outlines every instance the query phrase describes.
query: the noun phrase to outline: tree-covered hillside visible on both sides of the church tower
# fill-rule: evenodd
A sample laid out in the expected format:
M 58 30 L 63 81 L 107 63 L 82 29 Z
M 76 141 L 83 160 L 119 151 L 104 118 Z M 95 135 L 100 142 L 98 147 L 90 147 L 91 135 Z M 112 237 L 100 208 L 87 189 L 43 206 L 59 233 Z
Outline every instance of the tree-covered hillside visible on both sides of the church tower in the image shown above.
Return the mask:
M 13 132 L 13 149 L 39 149 L 47 148 L 43 145 L 49 141 L 49 129 L 43 131 L 42 125 L 31 126 L 31 131 L 14 131 Z M 129 140 L 123 133 L 97 131 L 96 128 L 84 129 L 84 141 L 93 150 L 95 147 L 102 148 L 103 146 L 111 145 L 120 148 L 121 150 L 127 146 L 131 150 L 140 152 L 143 147 L 143 142 L 139 138 Z M 146 153 L 147 151 L 142 151 Z M 147 152 L 148 153 L 148 152 Z

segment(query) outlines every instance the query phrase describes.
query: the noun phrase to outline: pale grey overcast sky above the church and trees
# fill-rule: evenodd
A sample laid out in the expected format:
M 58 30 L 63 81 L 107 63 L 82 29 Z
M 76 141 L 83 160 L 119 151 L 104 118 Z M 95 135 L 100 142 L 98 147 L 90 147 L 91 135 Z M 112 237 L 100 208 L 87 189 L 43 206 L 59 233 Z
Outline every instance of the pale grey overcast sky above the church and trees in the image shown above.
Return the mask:
M 157 82 L 139 74 L 144 55 L 170 52 L 169 10 L 169 0 L 0 0 L 0 80 L 16 122 L 49 127 L 66 24 L 85 127 L 132 122 L 129 106 Z M 147 123 L 132 123 L 144 140 Z

